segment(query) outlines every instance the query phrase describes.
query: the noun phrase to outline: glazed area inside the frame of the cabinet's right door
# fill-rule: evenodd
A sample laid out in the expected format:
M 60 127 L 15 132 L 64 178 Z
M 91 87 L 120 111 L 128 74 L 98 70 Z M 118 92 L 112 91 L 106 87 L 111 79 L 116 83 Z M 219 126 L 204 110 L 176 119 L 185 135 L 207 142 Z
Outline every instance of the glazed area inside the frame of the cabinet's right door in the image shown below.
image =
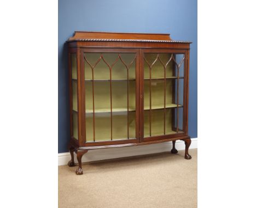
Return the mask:
M 179 131 L 182 130 L 183 57 L 184 54 L 172 53 L 144 55 L 144 137 L 177 133 L 177 121 Z

